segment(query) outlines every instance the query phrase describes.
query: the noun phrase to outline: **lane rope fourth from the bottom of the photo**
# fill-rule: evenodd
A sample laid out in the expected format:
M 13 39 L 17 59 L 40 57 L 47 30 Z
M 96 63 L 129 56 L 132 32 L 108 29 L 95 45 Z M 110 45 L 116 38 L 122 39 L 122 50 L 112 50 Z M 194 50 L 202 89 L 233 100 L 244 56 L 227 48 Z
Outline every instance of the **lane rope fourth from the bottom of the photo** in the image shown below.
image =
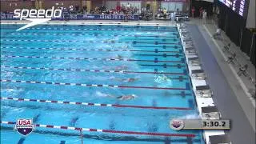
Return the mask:
M 169 74 L 169 75 L 186 75 L 184 73 L 168 73 L 168 72 L 150 72 L 150 71 L 126 71 L 126 70 L 89 70 L 89 69 L 72 69 L 72 68 L 47 68 L 47 67 L 27 67 L 27 66 L 1 66 L 2 68 L 24 69 L 24 70 L 63 70 L 63 71 L 86 71 L 86 72 L 106 72 L 121 74 Z

